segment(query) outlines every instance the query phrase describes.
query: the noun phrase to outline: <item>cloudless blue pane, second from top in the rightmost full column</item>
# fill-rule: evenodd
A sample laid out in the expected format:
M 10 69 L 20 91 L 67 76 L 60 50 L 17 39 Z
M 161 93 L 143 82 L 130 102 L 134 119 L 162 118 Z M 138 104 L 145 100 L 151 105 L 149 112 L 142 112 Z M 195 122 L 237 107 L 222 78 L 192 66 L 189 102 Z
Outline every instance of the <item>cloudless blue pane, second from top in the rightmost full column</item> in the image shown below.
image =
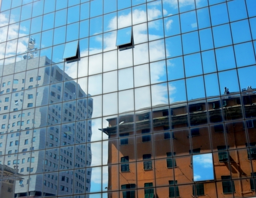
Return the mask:
M 234 44 L 252 40 L 249 21 L 247 19 L 233 22 L 230 25 Z

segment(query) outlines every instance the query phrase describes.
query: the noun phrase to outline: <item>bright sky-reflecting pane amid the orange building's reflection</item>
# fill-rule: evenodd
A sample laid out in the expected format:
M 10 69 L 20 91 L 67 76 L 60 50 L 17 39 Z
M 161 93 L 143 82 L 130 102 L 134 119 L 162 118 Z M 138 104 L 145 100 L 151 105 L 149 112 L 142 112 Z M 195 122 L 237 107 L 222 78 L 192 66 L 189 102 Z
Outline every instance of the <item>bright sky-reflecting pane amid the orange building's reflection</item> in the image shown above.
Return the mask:
M 194 181 L 213 180 L 212 154 L 193 155 Z

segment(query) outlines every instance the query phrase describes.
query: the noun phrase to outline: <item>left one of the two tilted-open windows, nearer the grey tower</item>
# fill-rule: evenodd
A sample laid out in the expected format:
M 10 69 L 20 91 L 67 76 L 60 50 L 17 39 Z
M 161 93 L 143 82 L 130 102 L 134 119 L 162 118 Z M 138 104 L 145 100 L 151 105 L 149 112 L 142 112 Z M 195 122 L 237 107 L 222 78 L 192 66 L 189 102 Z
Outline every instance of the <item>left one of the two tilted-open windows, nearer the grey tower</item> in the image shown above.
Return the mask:
M 79 58 L 80 51 L 78 40 L 66 43 L 62 59 L 65 59 L 65 61 L 70 63 L 77 61 Z

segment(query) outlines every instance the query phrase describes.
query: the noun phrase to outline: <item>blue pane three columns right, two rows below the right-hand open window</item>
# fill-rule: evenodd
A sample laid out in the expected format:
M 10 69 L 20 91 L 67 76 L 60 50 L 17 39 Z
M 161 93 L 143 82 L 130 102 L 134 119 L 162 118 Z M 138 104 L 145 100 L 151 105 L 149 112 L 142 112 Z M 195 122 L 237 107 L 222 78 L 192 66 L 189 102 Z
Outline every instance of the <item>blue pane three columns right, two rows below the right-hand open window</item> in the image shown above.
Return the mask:
M 185 77 L 182 56 L 173 59 L 167 59 L 166 62 L 168 81 Z

